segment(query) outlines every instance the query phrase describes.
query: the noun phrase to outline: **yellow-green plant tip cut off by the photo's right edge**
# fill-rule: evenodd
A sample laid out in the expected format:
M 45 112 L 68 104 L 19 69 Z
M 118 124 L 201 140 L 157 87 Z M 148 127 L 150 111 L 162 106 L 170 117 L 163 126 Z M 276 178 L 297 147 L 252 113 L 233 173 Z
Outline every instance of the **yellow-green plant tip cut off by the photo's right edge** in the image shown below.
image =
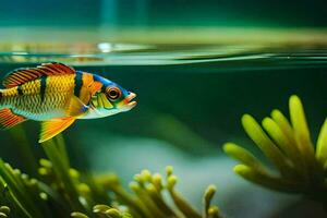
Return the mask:
M 324 167 L 325 162 L 327 161 L 327 119 L 322 126 L 317 140 L 316 157 L 320 165 Z

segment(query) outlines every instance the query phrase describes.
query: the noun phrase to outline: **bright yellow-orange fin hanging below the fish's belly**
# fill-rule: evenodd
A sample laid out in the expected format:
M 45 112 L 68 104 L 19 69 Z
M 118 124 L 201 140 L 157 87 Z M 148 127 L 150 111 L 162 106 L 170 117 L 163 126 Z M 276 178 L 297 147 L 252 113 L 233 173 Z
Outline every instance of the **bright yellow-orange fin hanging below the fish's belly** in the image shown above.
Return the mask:
M 71 117 L 64 119 L 52 119 L 43 122 L 38 143 L 44 143 L 48 140 L 51 140 L 52 137 L 68 129 L 71 124 L 73 124 L 75 120 L 75 118 Z

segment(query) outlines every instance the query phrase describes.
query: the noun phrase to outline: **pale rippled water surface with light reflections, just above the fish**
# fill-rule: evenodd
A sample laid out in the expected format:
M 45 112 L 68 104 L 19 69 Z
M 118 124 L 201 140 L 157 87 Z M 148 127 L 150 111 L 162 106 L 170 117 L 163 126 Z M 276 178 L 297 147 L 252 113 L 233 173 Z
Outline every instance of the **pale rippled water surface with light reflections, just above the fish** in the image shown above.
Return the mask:
M 3 47 L 3 46 L 2 46 Z M 1 48 L 1 45 L 0 45 Z M 34 44 L 1 49 L 0 63 L 59 61 L 72 65 L 168 65 L 209 63 L 259 68 L 326 65 L 327 45 Z

